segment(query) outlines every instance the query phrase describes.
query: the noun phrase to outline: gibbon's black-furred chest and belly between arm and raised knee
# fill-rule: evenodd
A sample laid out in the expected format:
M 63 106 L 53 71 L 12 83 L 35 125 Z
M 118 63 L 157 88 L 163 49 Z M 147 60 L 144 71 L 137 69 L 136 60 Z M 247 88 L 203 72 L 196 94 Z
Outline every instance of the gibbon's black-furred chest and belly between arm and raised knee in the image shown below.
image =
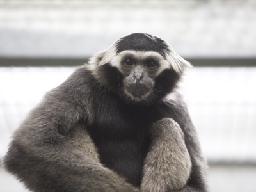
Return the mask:
M 95 109 L 95 122 L 89 130 L 102 164 L 140 186 L 143 162 L 150 146 L 149 128 L 157 116 L 156 110 L 118 102 Z

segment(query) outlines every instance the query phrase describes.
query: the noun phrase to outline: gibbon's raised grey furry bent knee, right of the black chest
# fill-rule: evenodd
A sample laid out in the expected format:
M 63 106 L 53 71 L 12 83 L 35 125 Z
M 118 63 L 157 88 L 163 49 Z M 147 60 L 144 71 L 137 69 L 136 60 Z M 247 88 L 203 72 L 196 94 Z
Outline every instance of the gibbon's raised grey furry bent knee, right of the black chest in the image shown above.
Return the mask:
M 145 158 L 141 191 L 175 191 L 183 188 L 191 172 L 191 160 L 179 124 L 163 118 L 150 130 L 152 145 Z

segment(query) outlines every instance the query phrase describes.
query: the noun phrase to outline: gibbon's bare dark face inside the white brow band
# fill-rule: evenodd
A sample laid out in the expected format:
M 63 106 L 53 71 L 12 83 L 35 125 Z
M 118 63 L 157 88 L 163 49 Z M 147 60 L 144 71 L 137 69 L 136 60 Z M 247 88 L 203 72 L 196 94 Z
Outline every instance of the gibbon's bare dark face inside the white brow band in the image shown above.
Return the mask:
M 133 99 L 147 97 L 154 87 L 154 78 L 159 69 L 159 63 L 154 58 L 140 60 L 126 56 L 120 63 L 124 75 L 125 93 Z

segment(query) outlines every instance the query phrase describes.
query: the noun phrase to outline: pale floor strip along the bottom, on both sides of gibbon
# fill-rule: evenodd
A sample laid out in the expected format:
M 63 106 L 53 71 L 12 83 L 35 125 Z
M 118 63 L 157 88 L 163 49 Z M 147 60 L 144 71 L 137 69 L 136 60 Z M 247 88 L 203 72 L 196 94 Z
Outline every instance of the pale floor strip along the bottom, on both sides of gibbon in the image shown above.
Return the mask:
M 255 192 L 256 166 L 209 166 L 211 192 Z M 28 192 L 22 184 L 0 168 L 1 192 Z

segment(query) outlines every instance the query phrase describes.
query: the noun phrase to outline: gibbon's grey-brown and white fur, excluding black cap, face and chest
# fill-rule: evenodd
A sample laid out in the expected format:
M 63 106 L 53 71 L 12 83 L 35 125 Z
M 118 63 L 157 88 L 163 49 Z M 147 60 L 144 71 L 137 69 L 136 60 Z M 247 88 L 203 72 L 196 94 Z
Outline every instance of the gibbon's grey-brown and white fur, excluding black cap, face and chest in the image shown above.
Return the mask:
M 79 67 L 67 81 L 45 95 L 13 134 L 10 148 L 4 157 L 6 170 L 24 182 L 28 189 L 38 192 L 207 191 L 206 163 L 195 127 L 182 97 L 173 89 L 166 93 L 166 97 L 152 100 L 154 105 L 159 102 L 163 108 L 168 108 L 170 114 L 163 115 L 164 118 L 148 126 L 151 143 L 143 163 L 140 186 L 133 186 L 125 177 L 101 163 L 99 148 L 89 129 L 99 121 L 99 111 L 109 105 L 109 102 L 101 98 L 109 97 L 111 100 L 112 96 L 109 95 L 112 90 L 107 83 L 102 83 L 104 79 L 98 68 L 105 65 L 102 58 L 111 61 L 117 45 L 118 42 L 112 45 L 110 52 L 100 52 L 90 60 L 90 65 Z M 164 55 L 171 67 L 162 68 L 173 68 L 180 77 L 185 66 L 189 65 L 172 49 L 170 52 L 172 54 Z M 171 56 L 172 60 L 169 61 Z M 172 63 L 175 61 L 177 63 Z M 111 65 L 116 67 L 116 63 Z M 107 91 L 103 93 L 99 90 Z M 95 104 L 98 106 L 95 107 Z M 153 104 L 148 103 L 148 106 Z M 141 108 L 143 105 L 136 103 Z M 157 105 L 155 108 L 158 109 Z M 147 111 L 143 112 L 147 114 Z M 113 118 L 112 114 L 103 115 Z

